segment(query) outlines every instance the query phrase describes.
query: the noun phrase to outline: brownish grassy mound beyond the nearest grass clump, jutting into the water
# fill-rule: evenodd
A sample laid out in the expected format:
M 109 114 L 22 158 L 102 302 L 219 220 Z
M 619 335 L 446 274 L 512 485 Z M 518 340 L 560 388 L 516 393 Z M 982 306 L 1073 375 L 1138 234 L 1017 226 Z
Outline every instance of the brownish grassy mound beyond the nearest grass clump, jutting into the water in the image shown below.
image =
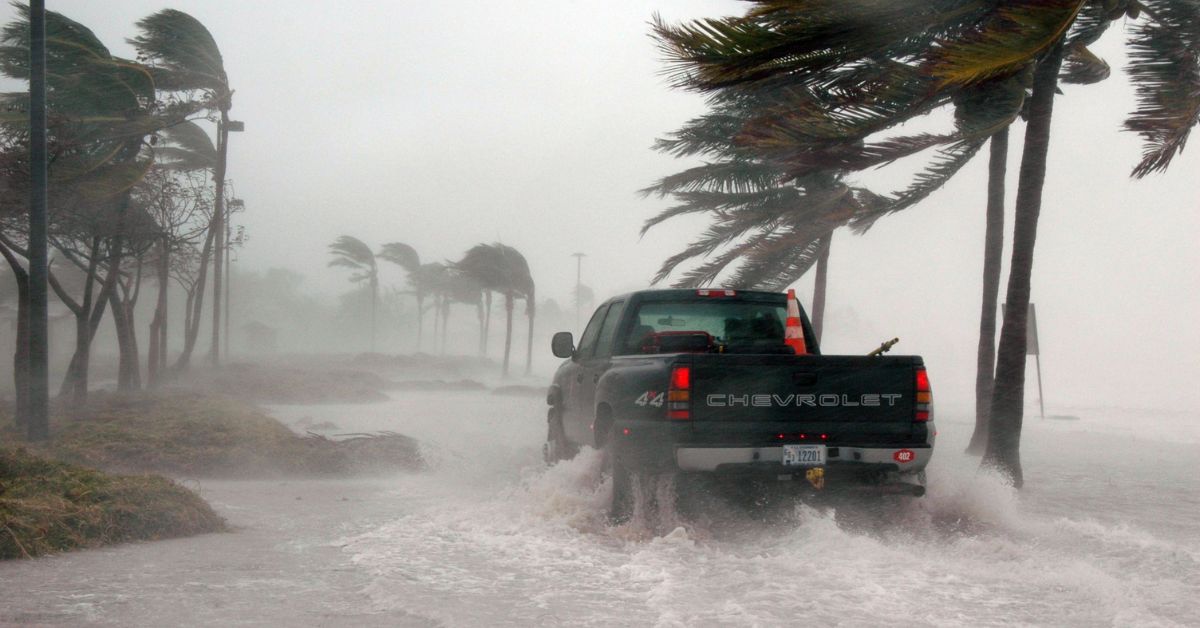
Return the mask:
M 305 438 L 251 403 L 186 390 L 94 393 L 84 412 L 56 417 L 52 433 L 52 457 L 122 473 L 262 478 L 421 465 L 415 441 L 401 435 Z

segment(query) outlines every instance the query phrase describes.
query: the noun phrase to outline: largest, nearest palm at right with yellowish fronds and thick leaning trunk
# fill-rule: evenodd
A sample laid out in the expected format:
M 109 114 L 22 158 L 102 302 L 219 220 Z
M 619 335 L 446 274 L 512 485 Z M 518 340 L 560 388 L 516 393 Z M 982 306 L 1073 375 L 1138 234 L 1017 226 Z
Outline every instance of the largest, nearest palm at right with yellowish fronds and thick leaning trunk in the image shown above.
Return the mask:
M 1039 156 L 1037 146 L 1048 140 L 1046 136 L 1038 137 L 1038 133 L 1043 127 L 1049 130 L 1048 120 L 1034 121 L 1034 118 L 1048 116 L 1051 110 L 1045 102 L 1036 107 L 1033 101 L 1038 96 L 1043 101 L 1052 100 L 1052 90 L 1046 95 L 1045 86 L 1050 84 L 1052 88 L 1057 82 L 1063 58 L 1067 59 L 1064 78 L 1090 82 L 1106 76 L 1108 66 L 1087 52 L 1086 46 L 1112 19 L 1127 12 L 1136 17 L 1139 10 L 1148 6 L 1136 2 L 1091 2 L 1085 6 L 1082 0 L 959 1 L 918 6 L 846 2 L 836 12 L 821 12 L 794 2 L 758 1 L 756 5 L 745 18 L 702 20 L 682 28 L 659 22 L 656 31 L 676 64 L 677 84 L 680 86 L 713 91 L 752 84 L 761 89 L 792 92 L 791 102 L 768 109 L 761 121 L 755 122 L 757 130 L 743 133 L 764 150 L 773 144 L 794 150 L 787 139 L 800 138 L 811 144 L 811 139 L 817 138 L 833 144 L 834 152 L 829 155 L 822 146 L 820 151 L 798 151 L 802 157 L 805 152 L 824 154 L 826 161 L 829 157 L 869 157 L 869 152 L 862 150 L 847 154 L 846 140 L 851 140 L 848 145 L 853 148 L 856 138 L 862 139 L 947 103 L 958 106 L 959 112 L 964 110 L 962 103 L 982 104 L 982 108 L 995 109 L 996 113 L 1010 110 L 1010 107 L 997 108 L 995 103 L 978 102 L 979 88 L 1012 83 L 1037 67 L 1040 73 L 1033 79 L 1034 96 L 1031 98 L 1026 137 L 1026 148 L 1033 146 L 1034 150 L 1022 156 L 1019 225 L 1014 235 L 1014 261 L 1027 259 L 1030 264 L 1044 180 L 1044 154 Z M 1162 95 L 1166 85 L 1172 84 L 1171 79 L 1176 85 L 1181 83 L 1180 78 L 1186 79 L 1182 80 L 1184 85 L 1194 84 L 1195 54 L 1200 48 L 1195 46 L 1194 2 L 1163 0 L 1156 5 L 1159 6 L 1146 8 L 1146 12 L 1157 13 L 1153 22 L 1162 28 L 1158 32 L 1140 34 L 1144 43 L 1140 50 L 1147 55 L 1147 74 L 1156 77 L 1148 80 L 1148 92 Z M 1169 7 L 1174 11 L 1168 12 Z M 871 28 L 863 29 L 863 24 Z M 1150 46 L 1153 36 L 1170 42 Z M 1046 65 L 1052 66 L 1052 72 L 1045 68 Z M 1170 70 L 1164 71 L 1165 66 Z M 1042 79 L 1040 83 L 1038 79 Z M 1042 94 L 1038 94 L 1038 86 Z M 1013 91 L 1009 89 L 1009 92 Z M 1193 97 L 1183 97 L 1187 94 Z M 1177 97 L 1166 98 L 1165 104 L 1158 102 L 1157 109 L 1148 107 L 1150 114 L 1132 120 L 1130 128 L 1142 132 L 1152 149 L 1141 167 L 1153 167 L 1157 156 L 1174 155 L 1182 145 L 1180 140 L 1186 138 L 1186 130 L 1195 124 L 1196 109 L 1181 103 L 1194 102 L 1196 94 L 1200 90 L 1176 91 Z M 1024 94 L 1021 96 L 1024 100 Z M 1144 109 L 1147 109 L 1147 101 L 1153 98 L 1142 100 Z M 1160 115 L 1164 109 L 1171 114 Z M 1003 121 L 997 115 L 986 118 Z M 979 148 L 982 138 L 995 134 L 1004 125 L 985 125 L 983 128 L 991 128 L 986 134 L 979 132 L 978 125 L 971 125 L 976 127 L 972 142 L 955 139 L 952 150 L 943 154 L 940 163 L 935 162 L 926 173 L 918 175 L 908 192 L 896 195 L 895 202 L 876 207 L 868 215 L 857 216 L 854 222 L 865 228 L 878 216 L 911 207 L 911 201 L 919 198 L 919 193 L 912 191 L 920 192 L 952 177 Z M 917 148 L 919 142 L 910 144 Z M 800 163 L 802 167 L 804 165 Z M 1021 252 L 1018 253 L 1018 250 Z M 1019 255 L 1021 259 L 1018 259 Z M 1016 274 L 1031 269 L 1024 263 L 1014 263 L 1013 268 Z M 1003 407 L 1004 417 L 1000 426 L 992 421 L 991 432 L 1004 432 L 1003 443 L 989 444 L 989 450 L 995 448 L 995 451 L 985 455 L 985 463 L 1001 468 L 1016 484 L 1021 480 L 1020 461 L 1013 435 L 1019 436 L 1020 432 L 1019 388 L 1024 382 L 1024 345 L 1019 342 L 1024 342 L 1024 304 L 1028 300 L 1027 294 L 1022 298 L 1022 283 L 1027 287 L 1027 277 L 1014 281 L 1010 276 L 1009 309 L 996 367 L 992 411 L 998 417 L 997 411 Z M 1007 343 L 1006 336 L 1009 339 Z M 1012 364 L 1013 354 L 1006 358 L 1006 347 L 1010 352 L 1020 348 L 1019 366 Z M 1012 399 L 1014 388 L 1018 389 L 1016 403 Z M 1002 396 L 1007 401 L 1001 401 Z

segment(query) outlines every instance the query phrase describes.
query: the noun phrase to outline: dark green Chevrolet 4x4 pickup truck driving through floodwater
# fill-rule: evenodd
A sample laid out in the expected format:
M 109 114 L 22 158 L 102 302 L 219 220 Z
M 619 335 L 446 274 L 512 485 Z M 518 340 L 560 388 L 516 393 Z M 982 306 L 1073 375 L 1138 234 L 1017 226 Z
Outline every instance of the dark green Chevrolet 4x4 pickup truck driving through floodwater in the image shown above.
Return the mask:
M 662 472 L 923 495 L 936 431 L 922 359 L 822 355 L 803 310 L 790 321 L 797 347 L 788 305 L 769 292 L 642 291 L 602 304 L 577 347 L 556 334 L 566 360 L 547 395 L 547 462 L 601 449 L 614 519 L 630 513 L 632 476 Z

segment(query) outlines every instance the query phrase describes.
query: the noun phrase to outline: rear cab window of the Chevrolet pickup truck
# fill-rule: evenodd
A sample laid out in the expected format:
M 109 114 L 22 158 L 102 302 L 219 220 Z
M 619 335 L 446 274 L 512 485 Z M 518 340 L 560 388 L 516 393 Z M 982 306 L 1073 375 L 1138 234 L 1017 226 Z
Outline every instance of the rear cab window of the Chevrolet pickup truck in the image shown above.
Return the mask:
M 781 301 L 748 303 L 722 299 L 704 301 L 649 301 L 637 307 L 622 353 L 649 353 L 656 340 L 707 334 L 712 351 L 731 353 L 791 352 L 784 343 L 787 307 Z M 691 351 L 703 351 L 695 347 Z

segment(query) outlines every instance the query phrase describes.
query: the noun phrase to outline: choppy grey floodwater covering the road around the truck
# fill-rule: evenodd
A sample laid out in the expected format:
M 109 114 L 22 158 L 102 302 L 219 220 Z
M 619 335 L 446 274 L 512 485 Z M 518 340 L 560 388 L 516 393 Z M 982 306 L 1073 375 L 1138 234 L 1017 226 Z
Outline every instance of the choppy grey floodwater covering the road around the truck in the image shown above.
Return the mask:
M 1194 413 L 1026 419 L 1026 489 L 960 454 L 868 508 L 721 501 L 612 527 L 599 459 L 545 468 L 544 401 L 416 391 L 278 418 L 424 443 L 427 472 L 193 484 L 227 534 L 0 564 L 0 623 L 1187 626 L 1200 621 Z

